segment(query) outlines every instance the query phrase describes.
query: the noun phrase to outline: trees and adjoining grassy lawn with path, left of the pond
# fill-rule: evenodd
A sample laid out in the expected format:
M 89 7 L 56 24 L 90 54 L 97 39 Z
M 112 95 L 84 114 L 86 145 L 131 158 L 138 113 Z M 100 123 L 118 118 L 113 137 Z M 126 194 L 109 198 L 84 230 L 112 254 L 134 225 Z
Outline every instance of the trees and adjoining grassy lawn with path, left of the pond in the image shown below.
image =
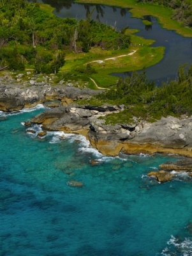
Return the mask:
M 153 40 L 135 36 L 137 30 L 117 31 L 96 22 L 93 11 L 85 20 L 60 19 L 46 4 L 1 1 L 0 70 L 61 70 L 59 76 L 83 80 L 90 88 L 113 88 L 117 77 L 110 73 L 139 70 L 163 58 L 163 47 L 149 47 Z M 95 72 L 84 72 L 87 65 Z

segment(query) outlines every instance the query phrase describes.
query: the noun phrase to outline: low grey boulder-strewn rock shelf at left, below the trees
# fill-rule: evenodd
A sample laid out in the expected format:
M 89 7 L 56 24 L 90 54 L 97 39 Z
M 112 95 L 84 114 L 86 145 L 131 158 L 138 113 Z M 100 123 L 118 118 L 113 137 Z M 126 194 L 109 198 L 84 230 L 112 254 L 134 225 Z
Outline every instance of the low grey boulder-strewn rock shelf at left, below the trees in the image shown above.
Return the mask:
M 0 111 L 11 112 L 22 108 L 32 108 L 37 104 L 52 100 L 61 100 L 61 105 L 66 105 L 97 93 L 98 91 L 87 88 L 80 90 L 80 88 L 64 85 L 18 86 L 18 84 L 3 84 L 0 85 Z

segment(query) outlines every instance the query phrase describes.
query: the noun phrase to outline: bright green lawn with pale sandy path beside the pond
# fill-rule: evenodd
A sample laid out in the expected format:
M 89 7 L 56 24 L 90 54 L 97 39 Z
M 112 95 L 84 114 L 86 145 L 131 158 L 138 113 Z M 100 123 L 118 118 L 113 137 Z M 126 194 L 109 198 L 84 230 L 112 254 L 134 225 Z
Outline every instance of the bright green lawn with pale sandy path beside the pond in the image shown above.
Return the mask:
M 150 45 L 154 40 L 146 40 L 133 35 L 135 32 L 137 31 L 130 29 L 127 31 L 131 34 L 131 47 L 129 49 L 105 51 L 101 48 L 92 48 L 87 53 L 67 54 L 66 63 L 61 68 L 61 72 L 73 72 L 78 76 L 77 68 L 86 67 L 90 63 L 97 73 L 88 77 L 94 79 L 101 88 L 113 88 L 118 77 L 110 76 L 111 73 L 140 70 L 155 65 L 162 60 L 164 47 L 151 47 Z M 96 88 L 91 79 L 89 81 L 90 86 Z

